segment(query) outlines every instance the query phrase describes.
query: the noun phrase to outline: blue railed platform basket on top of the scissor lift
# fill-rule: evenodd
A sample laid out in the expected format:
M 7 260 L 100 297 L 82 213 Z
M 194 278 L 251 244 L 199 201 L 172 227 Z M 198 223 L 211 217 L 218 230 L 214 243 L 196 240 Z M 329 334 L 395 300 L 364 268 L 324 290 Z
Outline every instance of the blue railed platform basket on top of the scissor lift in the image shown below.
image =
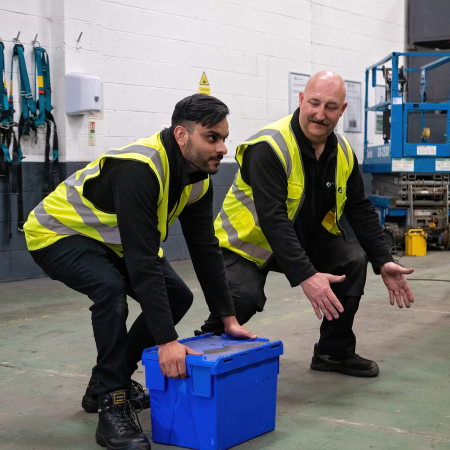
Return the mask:
M 437 57 L 435 61 L 420 67 L 404 69 L 404 72 L 420 72 L 421 102 L 405 103 L 403 94 L 399 88 L 401 71 L 399 69 L 399 57 L 401 56 L 426 56 Z M 390 89 L 387 91 L 387 101 L 377 105 L 369 106 L 369 81 L 371 85 L 377 85 L 377 72 L 384 72 L 384 64 L 392 61 L 390 71 Z M 364 117 L 364 164 L 363 171 L 366 173 L 392 173 L 392 172 L 414 172 L 414 173 L 443 173 L 450 172 L 450 101 L 442 103 L 427 103 L 426 86 L 427 75 L 443 64 L 450 62 L 450 53 L 398 53 L 394 52 L 378 63 L 366 69 L 366 92 L 365 92 L 365 117 Z M 390 98 L 389 98 L 390 97 Z M 390 139 L 385 140 L 383 145 L 369 146 L 367 135 L 367 122 L 369 111 L 390 110 Z M 408 113 L 420 113 L 422 129 L 425 128 L 425 112 L 437 111 L 447 114 L 447 133 L 445 143 L 429 144 L 425 133 L 421 142 L 409 143 L 408 136 Z

